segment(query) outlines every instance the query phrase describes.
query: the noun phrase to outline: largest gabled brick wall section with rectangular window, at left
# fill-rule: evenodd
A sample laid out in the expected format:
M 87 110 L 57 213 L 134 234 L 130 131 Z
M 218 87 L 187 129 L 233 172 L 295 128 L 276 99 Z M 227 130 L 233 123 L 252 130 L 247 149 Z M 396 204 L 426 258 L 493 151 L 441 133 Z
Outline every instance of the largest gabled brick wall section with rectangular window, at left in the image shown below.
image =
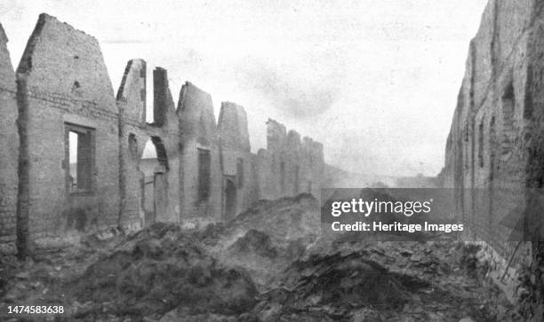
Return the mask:
M 20 209 L 28 209 L 31 235 L 68 237 L 117 224 L 117 106 L 99 43 L 41 14 L 17 80 L 25 156 L 19 170 L 29 178 L 20 182 Z M 68 158 L 72 127 L 84 137 L 78 152 L 88 156 L 78 162 L 85 184 L 76 191 Z

